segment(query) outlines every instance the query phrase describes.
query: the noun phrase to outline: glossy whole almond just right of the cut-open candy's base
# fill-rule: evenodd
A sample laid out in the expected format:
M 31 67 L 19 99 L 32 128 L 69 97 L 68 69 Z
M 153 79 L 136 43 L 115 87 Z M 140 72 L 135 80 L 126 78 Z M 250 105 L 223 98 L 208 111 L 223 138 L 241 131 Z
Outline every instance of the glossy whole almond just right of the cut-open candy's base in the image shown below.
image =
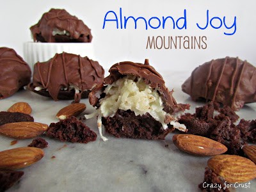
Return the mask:
M 227 151 L 225 145 L 193 134 L 175 134 L 172 140 L 180 150 L 196 156 L 214 156 Z

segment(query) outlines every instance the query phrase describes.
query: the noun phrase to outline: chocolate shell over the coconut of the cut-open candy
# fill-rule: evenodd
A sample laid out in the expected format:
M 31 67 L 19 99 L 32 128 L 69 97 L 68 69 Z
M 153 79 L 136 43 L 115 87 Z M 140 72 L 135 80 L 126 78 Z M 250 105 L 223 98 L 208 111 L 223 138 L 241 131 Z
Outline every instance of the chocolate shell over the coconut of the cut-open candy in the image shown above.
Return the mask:
M 97 92 L 103 92 L 104 84 L 112 84 L 116 80 L 127 76 L 132 75 L 140 77 L 145 81 L 146 84 L 150 84 L 152 88 L 157 88 L 159 95 L 163 100 L 164 111 L 170 114 L 177 113 L 179 111 L 184 111 L 189 108 L 188 104 L 177 104 L 176 100 L 173 98 L 172 93 L 164 84 L 163 77 L 149 65 L 148 60 L 145 60 L 145 64 L 133 63 L 131 61 L 124 61 L 116 63 L 109 69 L 110 75 L 104 79 L 104 83 L 94 88 L 89 94 L 89 101 L 92 106 L 97 106 L 99 98 L 96 96 Z

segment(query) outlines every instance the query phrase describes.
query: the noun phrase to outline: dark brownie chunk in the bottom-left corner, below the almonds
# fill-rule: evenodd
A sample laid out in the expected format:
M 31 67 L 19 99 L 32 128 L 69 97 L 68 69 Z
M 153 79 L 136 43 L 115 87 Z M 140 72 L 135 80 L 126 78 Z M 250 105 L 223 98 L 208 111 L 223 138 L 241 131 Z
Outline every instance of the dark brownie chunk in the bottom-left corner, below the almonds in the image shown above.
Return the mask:
M 0 170 L 0 191 L 11 188 L 22 175 L 24 175 L 22 171 Z

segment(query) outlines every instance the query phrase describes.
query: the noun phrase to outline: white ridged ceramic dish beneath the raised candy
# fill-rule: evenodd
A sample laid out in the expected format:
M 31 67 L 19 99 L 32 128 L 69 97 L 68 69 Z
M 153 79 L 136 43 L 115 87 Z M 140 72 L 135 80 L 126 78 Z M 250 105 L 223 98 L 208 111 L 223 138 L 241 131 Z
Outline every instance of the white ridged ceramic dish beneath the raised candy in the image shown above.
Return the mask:
M 95 60 L 92 43 L 41 43 L 25 42 L 23 46 L 24 60 L 29 64 L 33 71 L 36 62 L 50 60 L 56 53 L 68 52 L 88 56 Z

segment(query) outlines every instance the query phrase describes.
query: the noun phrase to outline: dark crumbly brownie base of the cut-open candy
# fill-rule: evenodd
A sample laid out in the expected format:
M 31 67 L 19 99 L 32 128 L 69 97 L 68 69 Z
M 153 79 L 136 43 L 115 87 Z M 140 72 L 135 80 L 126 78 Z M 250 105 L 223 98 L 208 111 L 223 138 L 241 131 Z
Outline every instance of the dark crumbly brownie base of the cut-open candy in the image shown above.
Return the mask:
M 117 138 L 164 140 L 172 128 L 163 129 L 150 114 L 136 116 L 131 110 L 118 109 L 113 117 L 102 117 L 102 124 L 107 132 Z

